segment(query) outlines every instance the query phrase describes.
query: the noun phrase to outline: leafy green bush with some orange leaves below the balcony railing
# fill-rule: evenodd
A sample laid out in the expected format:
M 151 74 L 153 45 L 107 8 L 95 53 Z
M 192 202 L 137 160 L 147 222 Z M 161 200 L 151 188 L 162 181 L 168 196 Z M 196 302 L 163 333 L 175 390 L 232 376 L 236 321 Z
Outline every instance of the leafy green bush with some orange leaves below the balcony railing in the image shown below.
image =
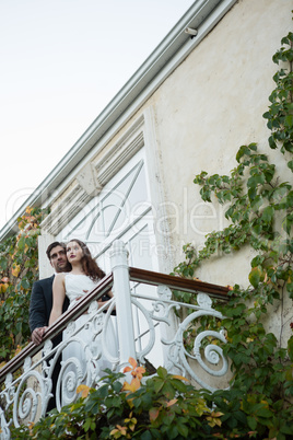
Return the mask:
M 131 382 L 124 373 L 103 378 L 101 386 L 81 385 L 75 404 L 54 410 L 31 427 L 12 429 L 16 439 L 226 439 L 293 436 L 293 413 L 280 402 L 268 402 L 241 390 L 196 390 L 181 377 L 142 378 L 133 366 Z M 139 374 L 138 374 L 139 370 Z

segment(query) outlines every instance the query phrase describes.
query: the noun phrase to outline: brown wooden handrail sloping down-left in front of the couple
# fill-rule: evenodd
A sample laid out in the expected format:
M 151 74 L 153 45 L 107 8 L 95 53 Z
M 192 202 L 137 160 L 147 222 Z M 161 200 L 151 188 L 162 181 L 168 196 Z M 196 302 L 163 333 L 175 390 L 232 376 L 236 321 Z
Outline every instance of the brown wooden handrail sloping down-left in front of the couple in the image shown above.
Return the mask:
M 36 345 L 30 343 L 22 351 L 20 351 L 14 358 L 4 364 L 0 370 L 0 383 L 5 380 L 8 373 L 13 373 L 16 371 L 24 362 L 25 358 L 35 356 L 43 347 L 47 339 L 51 339 L 58 334 L 60 334 L 72 320 L 72 317 L 78 319 L 87 309 L 93 300 L 98 300 L 103 294 L 105 294 L 113 286 L 113 275 L 109 274 L 103 278 L 98 285 L 90 292 L 86 293 L 77 305 L 72 309 L 66 311 L 52 325 L 50 325 L 44 336 L 42 344 Z

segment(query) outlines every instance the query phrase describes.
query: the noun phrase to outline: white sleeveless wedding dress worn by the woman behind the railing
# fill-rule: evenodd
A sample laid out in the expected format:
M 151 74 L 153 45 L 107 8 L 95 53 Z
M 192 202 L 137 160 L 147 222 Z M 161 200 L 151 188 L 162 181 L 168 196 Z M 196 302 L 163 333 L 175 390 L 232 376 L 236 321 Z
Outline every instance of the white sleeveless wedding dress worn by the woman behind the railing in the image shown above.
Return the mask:
M 69 309 L 75 305 L 81 297 L 92 291 L 98 282 L 94 282 L 86 275 L 70 273 L 66 274 L 65 281 L 66 294 L 70 301 Z M 84 290 L 87 292 L 84 292 Z M 67 363 L 62 381 L 62 406 L 73 402 L 77 397 L 77 386 L 79 384 L 92 385 L 93 378 L 96 381 L 105 375 L 104 370 L 106 368 L 113 368 L 113 363 L 105 357 L 102 348 L 102 333 L 98 332 L 98 328 L 102 329 L 104 326 L 105 317 L 105 313 L 99 313 L 98 319 L 79 331 L 73 340 L 68 343 L 62 351 L 63 366 Z M 75 329 L 87 321 L 87 313 L 81 315 L 75 320 Z M 115 317 L 109 317 L 106 328 L 104 327 L 106 331 L 104 348 L 113 358 L 117 358 L 117 332 L 113 321 L 115 321 Z M 71 332 L 66 329 L 63 332 L 63 341 L 68 340 L 69 337 L 72 338 Z M 90 363 L 89 359 L 92 359 Z

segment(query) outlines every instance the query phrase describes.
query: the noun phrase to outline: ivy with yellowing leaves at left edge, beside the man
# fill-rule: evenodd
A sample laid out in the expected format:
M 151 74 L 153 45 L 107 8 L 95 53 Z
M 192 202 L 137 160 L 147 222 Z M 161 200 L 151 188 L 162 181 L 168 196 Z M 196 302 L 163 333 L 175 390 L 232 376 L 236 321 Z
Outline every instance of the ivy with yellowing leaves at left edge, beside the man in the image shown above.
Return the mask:
M 30 340 L 28 305 L 38 279 L 37 236 L 46 212 L 27 207 L 19 232 L 0 243 L 0 367 Z

